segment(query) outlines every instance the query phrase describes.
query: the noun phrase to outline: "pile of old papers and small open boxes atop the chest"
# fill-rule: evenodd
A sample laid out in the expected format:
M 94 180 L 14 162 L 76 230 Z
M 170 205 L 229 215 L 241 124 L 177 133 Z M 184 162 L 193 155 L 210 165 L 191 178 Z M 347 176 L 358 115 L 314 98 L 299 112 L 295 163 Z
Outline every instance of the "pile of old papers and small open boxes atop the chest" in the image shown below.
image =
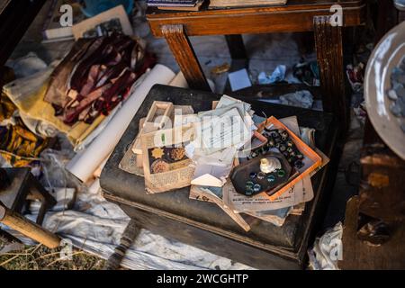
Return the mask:
M 289 144 L 282 148 L 284 156 L 277 143 L 272 143 L 270 135 L 275 131 L 283 131 L 282 138 Z M 299 127 L 294 116 L 259 117 L 250 104 L 228 95 L 203 112 L 154 102 L 147 117 L 140 120 L 139 135 L 120 168 L 144 176 L 147 193 L 190 186 L 190 199 L 217 204 L 245 230 L 255 219 L 282 226 L 289 215 L 302 214 L 314 194 L 311 176 L 329 161 L 315 148 L 313 135 L 314 130 Z M 271 172 L 260 175 L 257 167 L 245 168 L 269 153 L 285 157 L 293 167 L 291 172 L 284 169 L 286 181 L 271 192 L 263 186 L 263 179 L 272 181 Z M 242 176 L 235 176 L 240 169 Z M 281 170 L 278 167 L 275 172 Z

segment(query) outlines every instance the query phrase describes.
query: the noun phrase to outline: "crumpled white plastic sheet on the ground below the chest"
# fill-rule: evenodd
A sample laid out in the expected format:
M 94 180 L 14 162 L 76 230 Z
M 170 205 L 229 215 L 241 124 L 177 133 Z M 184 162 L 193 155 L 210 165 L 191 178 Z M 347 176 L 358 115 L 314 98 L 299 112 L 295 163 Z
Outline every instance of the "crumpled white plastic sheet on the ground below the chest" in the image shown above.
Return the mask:
M 43 225 L 62 238 L 71 239 L 76 247 L 107 258 L 119 245 L 129 221 L 118 205 L 104 200 L 96 180 L 87 192 L 78 193 L 75 211 L 49 211 Z M 130 269 L 251 269 L 145 229 L 121 265 Z

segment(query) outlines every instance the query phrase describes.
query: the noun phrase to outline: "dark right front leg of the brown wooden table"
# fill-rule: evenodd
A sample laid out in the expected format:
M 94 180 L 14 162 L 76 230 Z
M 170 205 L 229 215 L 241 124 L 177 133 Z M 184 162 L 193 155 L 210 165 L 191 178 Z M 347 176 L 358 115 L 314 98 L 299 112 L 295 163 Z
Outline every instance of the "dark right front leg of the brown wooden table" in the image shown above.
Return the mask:
M 342 28 L 332 26 L 329 16 L 314 17 L 315 48 L 320 67 L 323 110 L 334 112 L 347 130 L 348 113 L 345 93 Z

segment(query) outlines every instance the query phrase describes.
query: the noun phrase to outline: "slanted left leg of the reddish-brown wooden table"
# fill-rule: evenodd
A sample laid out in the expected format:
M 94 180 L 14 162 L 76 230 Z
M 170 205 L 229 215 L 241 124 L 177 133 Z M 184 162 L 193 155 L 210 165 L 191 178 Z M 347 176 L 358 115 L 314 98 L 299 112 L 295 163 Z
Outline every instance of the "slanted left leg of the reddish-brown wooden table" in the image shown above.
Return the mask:
M 161 29 L 190 88 L 211 91 L 183 25 L 164 25 Z

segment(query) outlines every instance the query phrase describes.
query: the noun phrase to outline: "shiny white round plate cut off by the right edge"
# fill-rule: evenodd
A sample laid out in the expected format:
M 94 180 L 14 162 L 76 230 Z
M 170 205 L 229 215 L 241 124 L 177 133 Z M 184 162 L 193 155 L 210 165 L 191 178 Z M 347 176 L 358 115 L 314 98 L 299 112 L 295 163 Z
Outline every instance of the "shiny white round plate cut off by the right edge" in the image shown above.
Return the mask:
M 401 118 L 390 111 L 392 101 L 387 92 L 391 89 L 392 69 L 404 57 L 405 22 L 383 37 L 365 70 L 365 103 L 370 121 L 385 144 L 402 159 L 405 159 L 405 133 L 401 130 Z

